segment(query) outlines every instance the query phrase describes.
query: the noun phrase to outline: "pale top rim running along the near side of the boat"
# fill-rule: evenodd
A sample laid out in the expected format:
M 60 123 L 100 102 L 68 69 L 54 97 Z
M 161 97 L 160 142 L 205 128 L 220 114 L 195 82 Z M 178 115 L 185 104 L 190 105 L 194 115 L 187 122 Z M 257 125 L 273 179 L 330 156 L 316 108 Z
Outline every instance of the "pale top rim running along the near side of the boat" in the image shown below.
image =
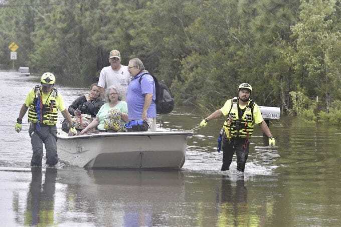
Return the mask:
M 64 133 L 63 133 L 64 134 Z M 60 132 L 57 134 L 58 139 L 89 139 L 102 137 L 120 137 L 120 136 L 165 136 L 165 135 L 187 135 L 193 136 L 193 131 L 158 131 L 158 132 L 97 132 L 85 135 L 68 136 Z M 66 133 L 65 133 L 66 134 Z

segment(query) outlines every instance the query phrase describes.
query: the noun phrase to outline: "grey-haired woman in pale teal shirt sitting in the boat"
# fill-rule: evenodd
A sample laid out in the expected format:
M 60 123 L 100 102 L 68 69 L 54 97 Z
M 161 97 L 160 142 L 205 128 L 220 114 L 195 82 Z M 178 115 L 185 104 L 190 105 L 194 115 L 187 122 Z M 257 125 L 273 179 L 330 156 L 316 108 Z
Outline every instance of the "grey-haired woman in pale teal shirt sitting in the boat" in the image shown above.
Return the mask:
M 108 130 L 123 131 L 124 121 L 128 121 L 128 108 L 125 101 L 121 101 L 121 97 L 114 86 L 107 89 L 107 103 L 105 103 L 98 111 L 96 118 L 81 131 L 81 134 L 93 132 L 105 132 Z M 115 117 L 114 119 L 110 119 Z M 117 118 L 118 117 L 118 118 Z M 112 122 L 116 127 L 112 127 Z M 119 122 L 120 121 L 120 122 Z M 110 126 L 111 125 L 111 126 Z M 117 128 L 117 125 L 120 128 Z M 97 127 L 97 130 L 96 130 Z M 111 128 L 112 127 L 112 128 Z

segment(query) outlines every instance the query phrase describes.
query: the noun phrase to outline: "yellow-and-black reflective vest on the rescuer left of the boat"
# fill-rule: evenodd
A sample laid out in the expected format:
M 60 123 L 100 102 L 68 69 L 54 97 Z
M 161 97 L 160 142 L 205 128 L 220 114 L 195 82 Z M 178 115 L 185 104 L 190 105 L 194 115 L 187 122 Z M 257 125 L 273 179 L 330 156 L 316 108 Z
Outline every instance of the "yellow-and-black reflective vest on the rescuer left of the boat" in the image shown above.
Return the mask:
M 56 88 L 53 88 L 49 98 L 47 99 L 47 103 L 42 103 L 42 87 L 40 85 L 37 85 L 34 88 L 35 91 L 35 98 L 33 99 L 33 103 L 31 103 L 29 107 L 29 121 L 33 123 L 38 122 L 38 116 L 37 116 L 37 108 L 36 108 L 36 101 L 40 100 L 41 105 L 41 120 L 43 124 L 45 125 L 56 125 L 57 124 L 57 118 L 58 118 L 58 109 L 56 105 L 56 97 L 58 95 L 58 91 Z M 40 123 L 40 122 L 39 122 Z

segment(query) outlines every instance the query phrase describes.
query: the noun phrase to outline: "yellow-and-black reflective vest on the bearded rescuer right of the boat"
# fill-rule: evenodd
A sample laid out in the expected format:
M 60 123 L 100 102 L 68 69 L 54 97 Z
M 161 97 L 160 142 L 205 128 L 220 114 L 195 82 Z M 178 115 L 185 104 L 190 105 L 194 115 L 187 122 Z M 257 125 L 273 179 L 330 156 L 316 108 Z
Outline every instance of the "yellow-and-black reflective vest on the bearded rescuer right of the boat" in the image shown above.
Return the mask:
M 224 122 L 224 130 L 226 137 L 231 138 L 248 138 L 253 133 L 253 107 L 255 106 L 255 101 L 249 100 L 245 107 L 245 112 L 240 118 L 238 115 L 238 98 L 234 97 L 232 99 L 232 105 L 229 113 L 227 114 L 227 119 Z

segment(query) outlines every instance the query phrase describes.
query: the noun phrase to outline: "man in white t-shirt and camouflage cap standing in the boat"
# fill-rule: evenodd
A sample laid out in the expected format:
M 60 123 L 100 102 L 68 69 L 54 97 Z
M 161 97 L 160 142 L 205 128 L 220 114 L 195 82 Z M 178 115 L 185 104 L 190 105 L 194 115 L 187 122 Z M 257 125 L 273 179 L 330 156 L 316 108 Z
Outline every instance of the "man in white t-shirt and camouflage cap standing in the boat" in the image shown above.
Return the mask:
M 98 87 L 101 95 L 104 95 L 104 90 L 110 86 L 115 86 L 117 92 L 125 100 L 128 84 L 131 81 L 128 67 L 121 65 L 121 54 L 117 50 L 112 50 L 109 54 L 110 66 L 104 67 L 101 70 L 98 79 Z

